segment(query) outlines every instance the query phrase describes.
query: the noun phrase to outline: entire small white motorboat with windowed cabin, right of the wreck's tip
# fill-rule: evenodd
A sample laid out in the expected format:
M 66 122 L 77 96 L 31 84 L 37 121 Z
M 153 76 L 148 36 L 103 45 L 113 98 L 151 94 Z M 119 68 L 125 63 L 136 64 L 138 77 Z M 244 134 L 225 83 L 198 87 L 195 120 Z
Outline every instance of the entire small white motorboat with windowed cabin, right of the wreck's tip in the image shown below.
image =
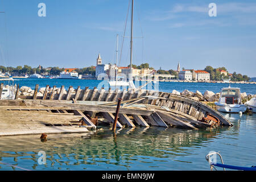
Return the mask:
M 222 88 L 220 100 L 214 102 L 218 111 L 225 113 L 243 113 L 246 105 L 242 104 L 240 88 Z

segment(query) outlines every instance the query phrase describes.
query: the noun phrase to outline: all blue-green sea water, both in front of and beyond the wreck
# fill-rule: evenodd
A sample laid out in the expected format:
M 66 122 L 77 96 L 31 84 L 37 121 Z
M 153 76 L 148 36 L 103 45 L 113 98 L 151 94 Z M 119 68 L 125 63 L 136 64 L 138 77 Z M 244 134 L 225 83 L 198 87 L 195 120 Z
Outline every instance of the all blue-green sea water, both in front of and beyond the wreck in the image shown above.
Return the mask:
M 31 87 L 38 83 L 97 86 L 95 80 L 16 82 Z M 160 82 L 160 88 L 169 92 L 172 89 L 217 92 L 223 85 Z M 242 92 L 255 94 L 254 85 L 241 84 L 240 88 Z M 212 131 L 142 127 L 118 130 L 116 135 L 109 127 L 103 127 L 88 134 L 49 134 L 47 142 L 41 142 L 40 135 L 0 137 L 0 170 L 20 170 L 1 163 L 31 170 L 209 170 L 205 160 L 209 151 L 220 151 L 225 164 L 255 166 L 256 114 L 223 115 L 233 127 Z M 46 164 L 39 165 L 39 151 L 46 152 Z

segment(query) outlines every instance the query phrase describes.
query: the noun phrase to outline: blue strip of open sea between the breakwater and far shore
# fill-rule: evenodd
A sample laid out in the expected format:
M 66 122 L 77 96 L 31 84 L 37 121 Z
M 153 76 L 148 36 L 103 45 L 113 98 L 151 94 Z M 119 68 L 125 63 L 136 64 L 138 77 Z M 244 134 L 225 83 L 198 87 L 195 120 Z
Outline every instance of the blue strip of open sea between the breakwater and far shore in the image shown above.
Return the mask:
M 35 88 L 36 84 L 39 84 L 39 87 L 46 87 L 46 85 L 53 87 L 54 85 L 56 85 L 58 88 L 60 88 L 61 85 L 64 85 L 65 89 L 68 89 L 69 86 L 73 86 L 74 88 L 77 88 L 77 86 L 81 86 L 82 89 L 84 89 L 86 86 L 89 86 L 90 89 L 93 89 L 94 86 L 98 86 L 100 82 L 100 80 L 66 80 L 47 78 L 19 78 L 15 79 L 14 81 L 15 84 L 19 84 L 20 86 L 29 86 L 32 89 Z M 229 84 L 205 82 L 159 82 L 159 91 L 172 92 L 172 90 L 175 89 L 179 92 L 182 92 L 184 89 L 188 89 L 192 92 L 196 92 L 196 90 L 199 90 L 201 93 L 204 93 L 206 90 L 210 90 L 214 93 L 217 93 L 220 92 L 221 88 L 228 86 Z M 246 92 L 247 94 L 256 94 L 256 84 L 231 84 L 231 86 L 241 88 L 241 92 Z

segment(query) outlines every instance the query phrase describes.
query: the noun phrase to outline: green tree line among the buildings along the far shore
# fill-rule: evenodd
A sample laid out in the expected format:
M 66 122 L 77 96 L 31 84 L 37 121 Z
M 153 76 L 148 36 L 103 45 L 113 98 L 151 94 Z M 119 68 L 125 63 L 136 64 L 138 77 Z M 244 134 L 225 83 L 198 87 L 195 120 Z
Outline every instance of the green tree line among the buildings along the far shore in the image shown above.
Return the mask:
M 127 67 L 130 67 L 130 65 L 128 65 Z M 133 64 L 132 67 L 134 69 L 142 69 L 142 68 L 148 68 L 148 69 L 152 69 L 152 70 L 154 69 L 154 68 L 150 67 L 150 65 L 148 63 L 144 63 L 141 65 Z M 65 70 L 64 68 L 59 68 L 59 67 L 32 68 L 28 65 L 24 65 L 23 67 L 18 66 L 16 68 L 14 68 L 14 67 L 4 67 L 4 66 L 0 65 L 0 71 L 2 73 L 8 72 L 10 74 L 13 73 L 15 75 L 32 75 L 34 73 L 38 73 L 38 74 L 42 74 L 42 75 L 60 75 L 60 72 L 62 72 L 64 70 Z M 226 71 L 227 75 L 225 75 L 224 73 L 221 73 L 222 70 Z M 77 73 L 79 73 L 80 75 L 88 74 L 88 75 L 95 76 L 95 73 L 96 73 L 96 69 L 94 66 L 85 67 L 85 68 L 77 68 L 77 69 L 75 69 L 75 71 Z M 242 75 L 241 73 L 237 74 L 236 72 L 232 73 L 232 75 L 229 76 L 229 73 L 225 67 L 213 68 L 211 66 L 207 66 L 207 67 L 205 67 L 204 71 L 207 71 L 208 73 L 210 73 L 210 80 L 213 80 L 213 81 L 218 81 L 218 80 L 222 80 L 222 78 L 229 78 L 229 77 L 231 77 L 232 81 L 249 81 L 250 80 L 250 77 L 248 77 L 247 75 Z M 161 75 L 174 75 L 175 76 L 174 79 L 177 79 L 179 77 L 178 73 L 176 71 L 174 71 L 173 69 L 170 69 L 168 71 L 159 69 L 156 72 Z

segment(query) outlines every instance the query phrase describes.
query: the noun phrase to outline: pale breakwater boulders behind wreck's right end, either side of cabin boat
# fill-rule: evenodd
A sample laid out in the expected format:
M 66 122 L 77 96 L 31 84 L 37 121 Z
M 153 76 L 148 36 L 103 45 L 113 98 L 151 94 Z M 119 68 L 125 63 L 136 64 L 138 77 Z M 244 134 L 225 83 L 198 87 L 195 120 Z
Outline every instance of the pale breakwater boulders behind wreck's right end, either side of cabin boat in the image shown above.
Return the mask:
M 189 90 L 184 90 L 183 92 L 178 92 L 177 90 L 172 91 L 173 94 L 190 97 L 193 100 L 201 102 L 214 102 L 220 99 L 220 93 L 214 93 L 212 91 L 206 90 L 204 94 L 196 90 L 196 92 L 191 92 Z M 247 95 L 246 92 L 241 93 L 242 102 L 250 100 L 251 98 L 256 97 L 256 95 Z

